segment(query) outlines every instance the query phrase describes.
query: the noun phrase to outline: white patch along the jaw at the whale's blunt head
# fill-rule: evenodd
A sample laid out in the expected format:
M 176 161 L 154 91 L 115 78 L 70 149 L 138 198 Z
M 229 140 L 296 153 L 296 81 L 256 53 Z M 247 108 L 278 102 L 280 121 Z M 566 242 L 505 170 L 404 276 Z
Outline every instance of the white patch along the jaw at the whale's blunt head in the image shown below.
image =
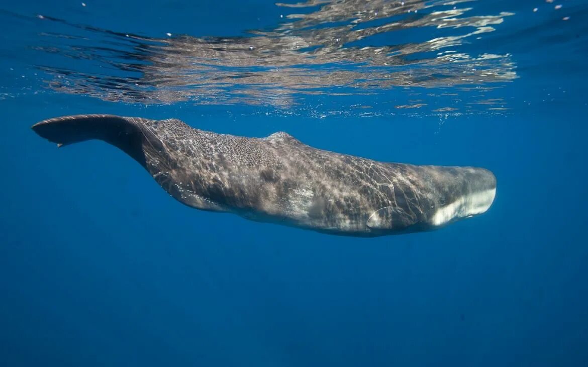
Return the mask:
M 456 201 L 439 208 L 431 217 L 430 223 L 440 226 L 453 218 L 469 218 L 476 214 L 482 214 L 490 208 L 495 196 L 496 188 L 462 196 Z

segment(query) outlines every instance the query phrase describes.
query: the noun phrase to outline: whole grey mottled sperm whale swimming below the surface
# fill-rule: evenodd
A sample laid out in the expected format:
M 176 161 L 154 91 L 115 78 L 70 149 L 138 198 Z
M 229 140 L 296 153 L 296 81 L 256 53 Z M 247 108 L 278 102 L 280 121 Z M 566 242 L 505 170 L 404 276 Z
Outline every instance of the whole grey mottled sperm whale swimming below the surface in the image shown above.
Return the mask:
M 62 116 L 32 129 L 58 146 L 112 144 L 192 208 L 334 235 L 430 231 L 486 212 L 496 195 L 484 168 L 378 162 L 285 132 L 246 138 L 115 115 Z

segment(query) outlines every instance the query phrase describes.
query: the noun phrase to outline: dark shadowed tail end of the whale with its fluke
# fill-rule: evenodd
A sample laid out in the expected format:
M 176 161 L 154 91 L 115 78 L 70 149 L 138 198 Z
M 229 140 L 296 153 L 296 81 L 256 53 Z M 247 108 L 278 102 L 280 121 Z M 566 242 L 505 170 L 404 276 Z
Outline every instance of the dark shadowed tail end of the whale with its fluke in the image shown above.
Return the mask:
M 136 121 L 137 120 L 137 121 Z M 32 129 L 57 146 L 98 139 L 112 144 L 145 166 L 141 119 L 115 115 L 62 116 L 36 123 Z

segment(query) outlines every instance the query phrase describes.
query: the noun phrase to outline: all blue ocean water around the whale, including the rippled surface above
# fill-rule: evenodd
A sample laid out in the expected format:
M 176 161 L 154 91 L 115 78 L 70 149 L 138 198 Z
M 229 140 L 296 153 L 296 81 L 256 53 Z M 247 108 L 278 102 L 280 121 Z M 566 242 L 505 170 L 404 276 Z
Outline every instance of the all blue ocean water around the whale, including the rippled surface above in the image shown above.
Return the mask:
M 588 2 L 285 3 L 2 2 L 0 365 L 588 365 Z M 497 196 L 410 235 L 246 221 L 30 128 L 86 113 L 481 166 Z

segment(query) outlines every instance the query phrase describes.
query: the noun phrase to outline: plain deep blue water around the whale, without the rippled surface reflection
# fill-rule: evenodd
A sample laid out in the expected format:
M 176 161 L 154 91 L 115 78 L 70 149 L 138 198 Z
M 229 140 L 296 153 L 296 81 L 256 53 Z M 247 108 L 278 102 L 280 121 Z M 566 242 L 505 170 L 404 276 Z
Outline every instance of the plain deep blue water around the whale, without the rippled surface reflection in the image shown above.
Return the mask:
M 269 1 L 103 3 L 4 8 L 193 35 L 235 35 L 283 13 Z M 505 4 L 492 8 L 513 11 Z M 520 78 L 501 92 L 514 109 L 447 119 L 268 118 L 34 94 L 40 86 L 16 75 L 32 72 L 34 54 L 4 52 L 2 92 L 15 95 L 0 99 L 0 365 L 588 365 L 588 109 L 586 72 L 573 67 L 585 49 L 570 46 L 577 39 L 562 46 L 573 32 L 552 44 L 549 29 L 517 33 L 536 24 L 513 19 L 492 47 L 519 63 Z M 112 146 L 56 149 L 30 129 L 78 113 L 176 117 L 246 136 L 283 130 L 382 161 L 483 166 L 497 176 L 497 198 L 440 231 L 375 239 L 249 222 L 179 204 Z

